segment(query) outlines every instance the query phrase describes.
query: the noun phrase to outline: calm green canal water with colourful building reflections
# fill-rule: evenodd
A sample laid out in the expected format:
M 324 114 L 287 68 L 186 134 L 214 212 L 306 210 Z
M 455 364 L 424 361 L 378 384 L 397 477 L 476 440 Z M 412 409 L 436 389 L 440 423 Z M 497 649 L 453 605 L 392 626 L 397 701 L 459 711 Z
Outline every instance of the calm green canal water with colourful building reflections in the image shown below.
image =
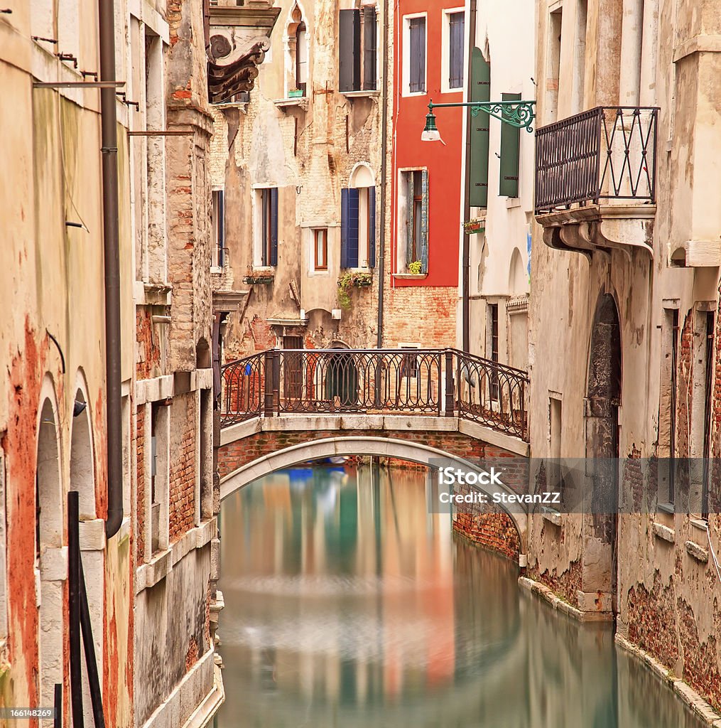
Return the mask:
M 219 728 L 700 728 L 608 627 L 429 515 L 420 470 L 274 473 L 223 502 Z

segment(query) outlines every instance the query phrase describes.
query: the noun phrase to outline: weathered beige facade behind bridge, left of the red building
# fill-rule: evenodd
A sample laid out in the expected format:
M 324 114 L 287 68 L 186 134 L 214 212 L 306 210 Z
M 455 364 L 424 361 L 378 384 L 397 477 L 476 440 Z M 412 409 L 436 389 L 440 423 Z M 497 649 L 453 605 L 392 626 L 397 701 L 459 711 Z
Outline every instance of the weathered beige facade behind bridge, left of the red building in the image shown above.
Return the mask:
M 376 343 L 382 8 L 273 10 L 252 92 L 213 108 L 212 275 L 226 360 Z M 212 34 L 218 63 L 230 64 L 254 39 L 227 23 L 218 13 Z

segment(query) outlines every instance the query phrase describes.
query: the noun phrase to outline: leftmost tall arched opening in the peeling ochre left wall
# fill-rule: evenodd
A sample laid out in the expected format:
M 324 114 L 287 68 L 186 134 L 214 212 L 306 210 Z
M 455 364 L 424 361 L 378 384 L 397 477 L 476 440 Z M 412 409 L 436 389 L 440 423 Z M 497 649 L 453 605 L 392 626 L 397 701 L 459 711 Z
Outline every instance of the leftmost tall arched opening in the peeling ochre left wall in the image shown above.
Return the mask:
M 52 384 L 50 385 L 52 386 Z M 35 568 L 39 575 L 39 693 L 41 705 L 53 705 L 55 684 L 63 683 L 63 499 L 57 416 L 45 398 L 38 424 L 36 468 Z M 45 724 L 46 721 L 44 721 Z M 52 725 L 52 721 L 47 721 Z

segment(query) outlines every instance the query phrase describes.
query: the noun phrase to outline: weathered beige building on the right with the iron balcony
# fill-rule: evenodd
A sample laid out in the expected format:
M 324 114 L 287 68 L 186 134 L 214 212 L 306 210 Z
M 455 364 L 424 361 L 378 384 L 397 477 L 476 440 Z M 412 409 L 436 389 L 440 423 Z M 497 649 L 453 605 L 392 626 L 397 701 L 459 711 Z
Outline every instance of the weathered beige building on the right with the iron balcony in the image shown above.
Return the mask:
M 624 507 L 532 519 L 529 573 L 718 707 L 717 480 L 667 467 L 718 456 L 717 7 L 536 9 L 532 455 L 622 459 L 536 486 Z

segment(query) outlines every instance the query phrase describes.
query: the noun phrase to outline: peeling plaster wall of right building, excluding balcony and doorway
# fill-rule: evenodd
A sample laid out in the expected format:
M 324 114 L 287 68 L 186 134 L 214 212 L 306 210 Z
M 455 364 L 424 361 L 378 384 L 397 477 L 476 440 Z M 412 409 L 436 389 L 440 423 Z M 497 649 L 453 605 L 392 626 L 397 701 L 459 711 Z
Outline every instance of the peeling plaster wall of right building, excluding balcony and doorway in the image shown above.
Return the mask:
M 669 454 L 669 373 L 667 314 L 677 309 L 678 339 L 676 454 L 703 454 L 704 331 L 707 311 L 717 315 L 711 382 L 712 456 L 719 451 L 720 336 L 718 268 L 671 266 L 670 258 L 688 241 L 718 245 L 721 213 L 709 204 L 708 190 L 719 189 L 721 152 L 718 120 L 721 118 L 719 54 L 707 42 L 718 33 L 717 8 L 696 1 L 676 4 L 660 0 L 657 11 L 647 3 L 644 33 L 658 44 L 642 50 L 640 103 L 658 106 L 658 155 L 656 166 L 657 212 L 648 226 L 653 258 L 634 252 L 594 252 L 589 264 L 577 253 L 551 250 L 543 245 L 538 227 L 534 232 L 533 290 L 530 303 L 530 369 L 533 381 L 530 411 L 532 455 L 549 455 L 549 392 L 562 395 L 562 456 L 588 453 L 584 427 L 584 403 L 589 371 L 589 347 L 594 307 L 600 292 L 612 293 L 621 320 L 622 387 L 620 424 L 621 457 L 667 457 Z M 539 42 L 536 78 L 546 77 L 548 11 L 537 4 Z M 570 58 L 573 20 L 564 20 L 563 58 Z M 573 13 L 573 9 L 571 14 Z M 589 2 L 586 36 L 585 106 L 618 101 L 620 17 L 604 3 Z M 567 25 L 566 25 L 567 23 Z M 611 28 L 616 28 L 613 33 Z M 567 47 L 568 44 L 568 47 Z M 564 55 L 565 54 L 565 55 Z M 564 65 L 559 79 L 558 118 L 573 113 L 565 95 L 572 84 L 573 64 Z M 653 73 L 648 71 L 653 69 Z M 539 85 L 539 116 L 546 114 L 546 87 Z M 687 256 L 693 248 L 687 249 Z M 717 256 L 718 258 L 718 256 Z M 689 261 L 690 262 L 690 261 Z M 551 364 L 549 364 L 551 363 Z M 699 380 L 701 377 L 701 380 Z M 666 394 L 664 395 L 664 392 Z M 695 396 L 696 392 L 696 396 Z M 664 399 L 664 397 L 666 397 Z M 592 443 L 591 443 L 592 451 Z M 717 640 L 721 612 L 720 588 L 709 551 L 709 537 L 698 521 L 683 513 L 653 515 L 657 502 L 668 495 L 658 486 L 653 469 L 643 475 L 626 462 L 624 475 L 636 510 L 618 522 L 618 632 L 653 654 L 674 674 L 687 681 L 715 707 L 721 707 L 721 661 Z M 721 521 L 718 511 L 717 474 L 712 474 L 709 497 L 710 539 L 719 550 Z M 688 513 L 688 483 L 677 482 L 676 502 Z M 692 509 L 694 510 L 694 509 Z M 698 518 L 698 516 L 696 517 Z M 574 574 L 588 557 L 581 516 L 562 518 L 560 527 L 548 521 L 529 526 L 529 572 L 573 601 L 583 590 Z M 608 563 L 608 562 L 607 562 Z

